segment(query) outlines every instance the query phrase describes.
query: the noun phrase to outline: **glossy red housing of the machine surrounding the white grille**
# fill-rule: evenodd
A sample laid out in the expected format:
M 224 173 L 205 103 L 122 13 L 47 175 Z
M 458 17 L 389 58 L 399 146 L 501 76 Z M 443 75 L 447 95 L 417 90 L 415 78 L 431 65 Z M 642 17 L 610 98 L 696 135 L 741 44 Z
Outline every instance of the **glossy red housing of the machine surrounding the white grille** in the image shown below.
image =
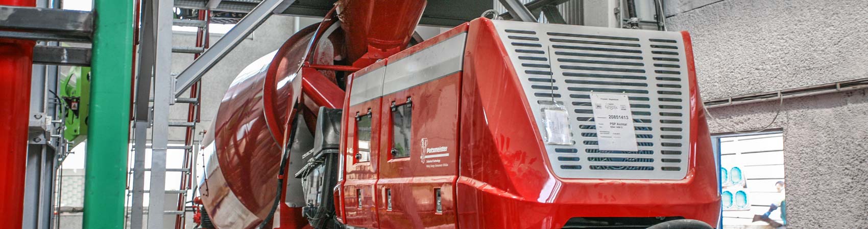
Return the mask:
M 385 68 L 383 87 L 388 87 L 393 63 L 457 35 L 467 37 L 466 46 L 450 47 L 464 48 L 461 71 L 397 92 L 381 88 L 382 95 L 376 98 L 352 101 L 353 96 L 365 93 L 357 90 L 371 87 L 369 75 Z M 570 179 L 555 175 L 537 134 L 541 127 L 531 112 L 532 100 L 519 82 L 524 75 L 509 60 L 506 41 L 498 37 L 492 21 L 477 19 L 354 74 L 344 107 L 345 173 L 335 191 L 341 221 L 365 228 L 561 228 L 576 219 L 661 217 L 716 225 L 720 217 L 717 169 L 697 90 L 690 37 L 687 32 L 681 36 L 687 59 L 690 131 L 683 178 Z M 365 82 L 359 80 L 363 76 Z M 359 83 L 365 86 L 357 86 Z M 411 156 L 394 158 L 388 153 L 393 131 L 390 107 L 408 99 L 414 115 Z M 370 162 L 360 162 L 355 156 L 359 148 L 355 119 L 368 114 L 372 126 L 378 128 L 371 130 Z M 418 141 L 420 138 L 426 139 Z M 425 149 L 432 146 L 445 147 L 449 153 L 438 158 L 436 167 L 418 160 L 422 156 L 424 161 Z M 442 205 L 440 210 L 435 207 L 437 202 Z

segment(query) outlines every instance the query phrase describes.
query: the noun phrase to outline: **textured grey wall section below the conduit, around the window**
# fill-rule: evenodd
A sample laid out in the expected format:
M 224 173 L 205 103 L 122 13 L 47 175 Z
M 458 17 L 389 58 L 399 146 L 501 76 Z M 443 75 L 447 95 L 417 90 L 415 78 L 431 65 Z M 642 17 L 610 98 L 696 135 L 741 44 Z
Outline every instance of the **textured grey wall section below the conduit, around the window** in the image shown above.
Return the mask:
M 716 108 L 720 124 L 709 125 L 756 130 L 778 110 L 778 101 Z M 868 225 L 868 90 L 786 99 L 772 128 L 784 130 L 788 228 Z

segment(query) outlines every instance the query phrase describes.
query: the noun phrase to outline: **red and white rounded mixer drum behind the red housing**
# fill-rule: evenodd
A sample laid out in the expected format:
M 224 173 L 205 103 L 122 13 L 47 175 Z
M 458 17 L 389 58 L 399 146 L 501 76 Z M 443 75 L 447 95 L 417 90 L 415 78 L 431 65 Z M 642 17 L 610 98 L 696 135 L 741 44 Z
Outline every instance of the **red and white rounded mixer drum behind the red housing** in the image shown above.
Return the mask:
M 253 228 L 273 207 L 283 143 L 273 133 L 282 133 L 288 105 L 299 97 L 297 73 L 316 28 L 302 29 L 278 51 L 253 61 L 220 102 L 214 126 L 203 139 L 210 156 L 199 188 L 217 228 Z M 265 90 L 268 86 L 276 90 Z

